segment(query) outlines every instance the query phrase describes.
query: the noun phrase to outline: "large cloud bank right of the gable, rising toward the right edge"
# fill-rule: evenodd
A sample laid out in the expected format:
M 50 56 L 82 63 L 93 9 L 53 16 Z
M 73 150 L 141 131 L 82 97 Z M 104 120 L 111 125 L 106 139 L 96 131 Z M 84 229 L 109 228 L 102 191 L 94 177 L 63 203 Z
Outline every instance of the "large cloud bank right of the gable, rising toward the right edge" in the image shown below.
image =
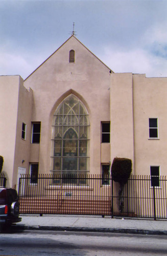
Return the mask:
M 166 20 L 152 24 L 143 29 L 140 37 L 133 43 L 126 46 L 111 42 L 98 57 L 116 73 L 146 74 L 147 77 L 167 76 L 166 27 Z

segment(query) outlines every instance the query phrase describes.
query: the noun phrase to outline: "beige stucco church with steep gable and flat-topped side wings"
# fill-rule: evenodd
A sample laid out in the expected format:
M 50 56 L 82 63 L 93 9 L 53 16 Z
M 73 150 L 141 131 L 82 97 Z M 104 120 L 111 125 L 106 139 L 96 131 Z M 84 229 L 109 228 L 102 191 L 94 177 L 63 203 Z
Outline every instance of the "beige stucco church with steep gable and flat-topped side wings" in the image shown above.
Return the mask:
M 134 175 L 166 173 L 167 78 L 114 73 L 74 35 L 25 80 L 0 76 L 0 105 L 7 186 L 20 174 L 103 176 L 115 157 Z

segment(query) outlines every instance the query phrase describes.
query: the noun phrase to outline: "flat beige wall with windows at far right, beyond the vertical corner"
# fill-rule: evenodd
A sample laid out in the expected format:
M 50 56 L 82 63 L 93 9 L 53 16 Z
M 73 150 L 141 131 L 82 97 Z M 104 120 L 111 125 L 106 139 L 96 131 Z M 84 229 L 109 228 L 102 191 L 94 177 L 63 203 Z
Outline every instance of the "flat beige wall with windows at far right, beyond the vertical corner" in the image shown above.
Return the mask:
M 167 78 L 133 75 L 135 172 L 149 175 L 150 166 L 160 166 L 166 175 Z M 149 139 L 149 118 L 158 118 L 158 139 Z

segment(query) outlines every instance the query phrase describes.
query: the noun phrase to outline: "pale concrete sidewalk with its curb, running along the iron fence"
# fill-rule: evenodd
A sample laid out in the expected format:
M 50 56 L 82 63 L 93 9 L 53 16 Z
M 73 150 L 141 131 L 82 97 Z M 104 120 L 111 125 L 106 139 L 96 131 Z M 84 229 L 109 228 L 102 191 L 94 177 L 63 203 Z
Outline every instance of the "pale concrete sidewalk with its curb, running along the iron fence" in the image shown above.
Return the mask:
M 16 229 L 166 234 L 167 220 L 124 219 L 101 216 L 20 215 Z

